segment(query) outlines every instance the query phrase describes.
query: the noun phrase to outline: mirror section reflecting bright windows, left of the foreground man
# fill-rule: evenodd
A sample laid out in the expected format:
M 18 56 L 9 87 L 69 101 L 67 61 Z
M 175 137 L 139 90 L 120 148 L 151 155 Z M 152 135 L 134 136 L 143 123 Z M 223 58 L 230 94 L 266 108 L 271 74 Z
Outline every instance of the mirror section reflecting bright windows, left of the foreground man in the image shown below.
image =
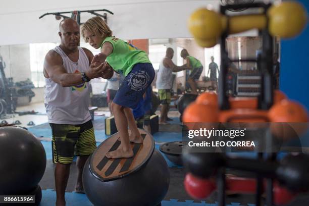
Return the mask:
M 55 45 L 55 44 L 54 44 Z M 27 127 L 46 122 L 42 63 L 50 44 L 0 46 L 0 123 Z M 37 116 L 29 116 L 37 114 Z

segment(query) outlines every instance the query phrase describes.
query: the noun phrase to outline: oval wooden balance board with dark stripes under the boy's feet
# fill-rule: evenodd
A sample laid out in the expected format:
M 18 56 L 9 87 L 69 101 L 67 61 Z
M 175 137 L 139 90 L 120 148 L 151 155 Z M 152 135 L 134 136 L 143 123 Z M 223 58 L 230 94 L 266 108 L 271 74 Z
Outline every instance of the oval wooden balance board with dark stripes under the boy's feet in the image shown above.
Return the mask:
M 102 142 L 92 153 L 89 167 L 91 173 L 103 182 L 123 178 L 139 170 L 150 158 L 155 149 L 153 137 L 146 131 L 138 129 L 142 138 L 142 144 L 131 142 L 134 152 L 132 158 L 109 159 L 106 152 L 116 150 L 120 146 L 119 132 Z M 129 130 L 129 135 L 131 131 Z

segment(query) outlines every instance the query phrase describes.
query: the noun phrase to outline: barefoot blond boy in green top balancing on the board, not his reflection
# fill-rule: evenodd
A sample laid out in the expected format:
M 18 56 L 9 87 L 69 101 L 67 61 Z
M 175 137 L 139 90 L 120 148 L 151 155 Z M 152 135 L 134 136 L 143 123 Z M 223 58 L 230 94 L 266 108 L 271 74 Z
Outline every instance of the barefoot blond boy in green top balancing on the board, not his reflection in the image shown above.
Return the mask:
M 131 109 L 138 106 L 146 89 L 151 85 L 155 70 L 143 50 L 113 36 L 112 30 L 102 18 L 93 17 L 87 20 L 82 25 L 81 33 L 92 47 L 100 48 L 101 53 L 95 55 L 91 63 L 99 65 L 107 62 L 115 72 L 125 76 L 111 104 L 121 145 L 118 149 L 107 152 L 106 157 L 131 158 L 133 150 L 130 141 L 143 142 Z M 106 70 L 105 73 L 113 70 Z M 130 136 L 128 126 L 131 130 Z

